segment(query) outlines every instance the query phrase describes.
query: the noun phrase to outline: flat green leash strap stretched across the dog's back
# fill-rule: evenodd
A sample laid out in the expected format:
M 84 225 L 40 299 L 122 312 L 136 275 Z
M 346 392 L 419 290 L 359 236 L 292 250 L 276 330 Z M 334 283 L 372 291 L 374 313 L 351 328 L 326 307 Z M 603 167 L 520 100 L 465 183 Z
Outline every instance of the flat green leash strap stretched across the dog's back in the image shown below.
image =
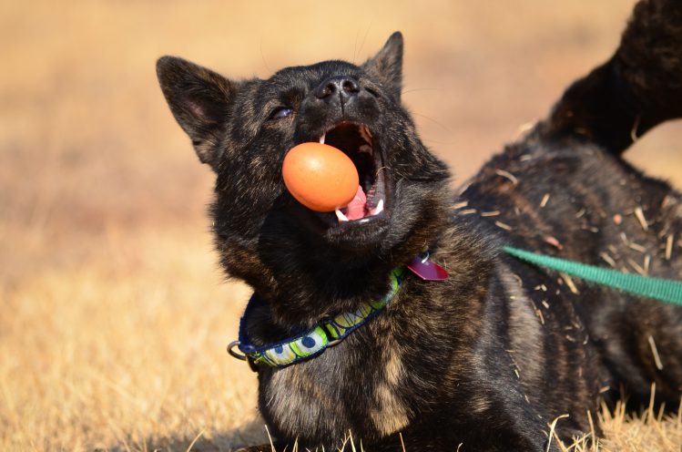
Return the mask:
M 585 263 L 526 252 L 509 246 L 505 246 L 503 250 L 525 262 L 557 272 L 564 272 L 584 281 L 595 282 L 626 293 L 634 293 L 646 298 L 682 306 L 682 282 L 617 272 Z

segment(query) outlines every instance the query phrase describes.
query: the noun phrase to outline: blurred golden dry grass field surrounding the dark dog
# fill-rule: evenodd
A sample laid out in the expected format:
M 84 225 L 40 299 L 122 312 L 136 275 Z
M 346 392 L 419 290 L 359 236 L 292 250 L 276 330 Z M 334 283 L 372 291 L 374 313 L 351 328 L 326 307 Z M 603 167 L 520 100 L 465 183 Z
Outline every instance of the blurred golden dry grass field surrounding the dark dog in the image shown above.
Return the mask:
M 404 101 L 457 184 L 606 59 L 632 5 L 0 3 L 0 450 L 267 439 L 255 375 L 225 353 L 249 290 L 219 272 L 212 175 L 168 112 L 158 56 L 268 77 L 361 62 L 400 29 Z M 681 139 L 667 124 L 628 159 L 682 187 Z M 679 416 L 604 416 L 605 451 L 682 450 Z

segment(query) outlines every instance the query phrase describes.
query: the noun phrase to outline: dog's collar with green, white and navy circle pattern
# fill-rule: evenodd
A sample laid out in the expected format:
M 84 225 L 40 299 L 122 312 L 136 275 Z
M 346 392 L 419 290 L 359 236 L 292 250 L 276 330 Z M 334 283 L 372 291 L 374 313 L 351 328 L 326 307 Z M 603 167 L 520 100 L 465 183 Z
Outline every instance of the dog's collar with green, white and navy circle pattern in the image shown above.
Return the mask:
M 362 324 L 366 324 L 378 313 L 381 313 L 398 292 L 404 273 L 404 267 L 399 267 L 391 272 L 391 289 L 381 300 L 362 303 L 355 312 L 340 313 L 335 317 L 322 320 L 320 324 L 301 334 L 296 334 L 276 344 L 262 346 L 251 344 L 246 336 L 246 319 L 258 304 L 263 303 L 254 293 L 239 322 L 239 341 L 228 345 L 229 354 L 239 359 L 248 360 L 252 368 L 255 368 L 256 365 L 286 367 L 317 356 L 327 348 L 339 344 Z M 235 346 L 239 347 L 244 355 L 236 353 L 234 351 Z

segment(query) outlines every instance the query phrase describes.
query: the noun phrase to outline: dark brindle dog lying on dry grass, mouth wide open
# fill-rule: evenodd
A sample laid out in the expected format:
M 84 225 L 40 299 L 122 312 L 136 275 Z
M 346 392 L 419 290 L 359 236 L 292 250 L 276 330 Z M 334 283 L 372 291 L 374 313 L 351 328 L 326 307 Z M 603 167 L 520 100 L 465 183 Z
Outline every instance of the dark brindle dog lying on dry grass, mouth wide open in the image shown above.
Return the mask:
M 399 33 L 361 66 L 234 81 L 166 56 L 158 78 L 217 174 L 221 262 L 264 302 L 245 324 L 256 344 L 380 299 L 392 269 L 425 247 L 450 272 L 445 282 L 407 276 L 381 314 L 314 359 L 259 366 L 276 446 L 332 450 L 350 431 L 368 451 L 400 450 L 399 433 L 412 452 L 544 451 L 557 416 L 569 415 L 559 437 L 588 432 L 598 401 L 622 389 L 638 406 L 655 382 L 657 402 L 677 409 L 682 309 L 501 248 L 682 277 L 682 196 L 621 159 L 682 116 L 682 2 L 638 3 L 615 55 L 457 195 L 402 108 Z M 364 218 L 310 211 L 285 189 L 287 150 L 323 135 L 358 167 Z

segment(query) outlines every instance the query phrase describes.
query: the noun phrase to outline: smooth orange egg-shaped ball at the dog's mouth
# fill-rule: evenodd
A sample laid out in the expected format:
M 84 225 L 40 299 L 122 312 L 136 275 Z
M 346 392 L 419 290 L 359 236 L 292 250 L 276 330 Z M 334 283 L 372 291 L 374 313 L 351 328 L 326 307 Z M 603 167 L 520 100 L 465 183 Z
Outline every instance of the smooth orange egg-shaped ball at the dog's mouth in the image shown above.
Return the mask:
M 322 143 L 300 143 L 291 148 L 281 172 L 291 196 L 312 211 L 344 207 L 358 191 L 358 170 L 351 159 Z

